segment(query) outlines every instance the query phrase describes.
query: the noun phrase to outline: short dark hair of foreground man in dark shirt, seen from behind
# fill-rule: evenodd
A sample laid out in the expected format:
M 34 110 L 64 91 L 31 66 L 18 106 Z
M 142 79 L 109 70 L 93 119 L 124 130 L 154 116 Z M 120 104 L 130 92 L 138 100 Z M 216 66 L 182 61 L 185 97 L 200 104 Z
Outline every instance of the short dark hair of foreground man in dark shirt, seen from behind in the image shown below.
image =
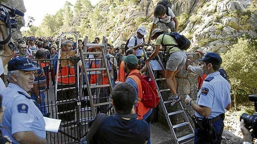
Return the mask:
M 136 99 L 136 90 L 132 85 L 119 83 L 113 88 L 111 95 L 117 113 L 124 115 L 131 113 Z

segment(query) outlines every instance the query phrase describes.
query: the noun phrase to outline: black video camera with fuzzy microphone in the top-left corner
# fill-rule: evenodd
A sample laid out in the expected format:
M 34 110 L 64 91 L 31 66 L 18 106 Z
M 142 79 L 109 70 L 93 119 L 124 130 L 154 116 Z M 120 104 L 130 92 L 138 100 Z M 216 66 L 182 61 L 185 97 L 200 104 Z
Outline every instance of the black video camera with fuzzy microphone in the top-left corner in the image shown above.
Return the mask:
M 22 16 L 23 17 L 24 13 L 22 13 L 18 9 L 11 8 L 11 7 L 6 6 L 2 3 L 0 5 L 1 5 L 1 7 L 0 7 L 0 12 L 1 12 L 0 13 L 0 20 L 2 22 L 4 22 L 6 24 L 6 28 L 9 29 L 8 37 L 5 40 L 0 41 L 1 45 L 5 45 L 11 39 L 12 29 L 17 28 L 17 26 L 19 24 L 18 21 L 16 20 L 16 17 L 17 16 Z M 8 10 L 6 10 L 6 9 L 8 9 Z M 8 45 L 9 45 L 10 49 L 12 51 L 14 51 L 14 44 L 12 42 L 9 42 Z

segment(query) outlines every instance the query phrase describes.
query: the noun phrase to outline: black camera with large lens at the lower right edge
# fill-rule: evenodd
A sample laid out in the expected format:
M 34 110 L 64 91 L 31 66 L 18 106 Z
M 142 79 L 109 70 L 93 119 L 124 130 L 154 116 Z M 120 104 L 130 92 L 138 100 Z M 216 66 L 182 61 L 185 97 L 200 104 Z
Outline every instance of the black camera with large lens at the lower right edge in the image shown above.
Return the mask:
M 254 102 L 255 112 L 257 112 L 257 94 L 251 94 L 248 97 L 249 97 L 249 101 Z M 240 116 L 240 121 L 242 119 L 244 120 L 245 127 L 249 131 L 253 129 L 253 131 L 251 132 L 252 137 L 257 138 L 257 133 L 256 133 L 257 132 L 257 113 L 253 113 L 253 115 L 243 113 Z

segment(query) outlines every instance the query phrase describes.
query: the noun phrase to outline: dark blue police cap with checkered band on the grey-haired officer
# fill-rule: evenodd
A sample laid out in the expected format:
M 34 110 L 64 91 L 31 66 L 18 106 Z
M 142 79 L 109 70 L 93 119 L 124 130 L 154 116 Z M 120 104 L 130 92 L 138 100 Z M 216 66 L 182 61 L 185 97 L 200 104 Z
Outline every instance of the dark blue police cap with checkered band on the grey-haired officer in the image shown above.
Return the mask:
M 24 70 L 24 71 L 34 71 L 40 68 L 34 67 L 31 60 L 25 57 L 14 58 L 8 62 L 8 71 L 13 70 Z

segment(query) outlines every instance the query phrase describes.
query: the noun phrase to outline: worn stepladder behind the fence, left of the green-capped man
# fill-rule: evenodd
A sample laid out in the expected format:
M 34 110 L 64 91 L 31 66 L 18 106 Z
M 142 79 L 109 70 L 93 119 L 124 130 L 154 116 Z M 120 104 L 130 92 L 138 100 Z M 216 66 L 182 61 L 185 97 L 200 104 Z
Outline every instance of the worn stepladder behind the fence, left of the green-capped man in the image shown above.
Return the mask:
M 102 87 L 109 87 L 110 91 L 112 91 L 112 83 L 111 83 L 111 78 L 110 78 L 110 73 L 108 70 L 108 64 L 107 64 L 107 59 L 105 57 L 105 51 L 107 49 L 107 43 L 108 40 L 103 37 L 103 43 L 102 44 L 87 44 L 88 42 L 88 37 L 86 36 L 85 40 L 84 40 L 84 51 L 81 49 L 80 50 L 80 57 L 81 57 L 81 62 L 82 62 L 82 68 L 83 68 L 83 73 L 84 73 L 84 77 L 86 79 L 86 87 L 87 87 L 87 91 L 88 91 L 88 96 L 89 96 L 89 100 L 90 100 L 90 105 L 91 105 L 91 111 L 92 111 L 92 115 L 93 117 L 96 116 L 96 107 L 97 106 L 102 106 L 102 105 L 107 105 L 107 104 L 112 104 L 112 102 L 109 100 L 109 102 L 103 102 L 103 103 L 99 103 L 96 102 L 94 103 L 94 99 L 93 97 L 98 97 L 99 98 L 99 93 L 100 93 L 100 88 Z M 101 47 L 101 52 L 86 52 L 86 47 Z M 84 58 L 84 54 L 101 54 L 101 58 L 92 58 L 93 61 L 95 60 L 99 60 L 100 62 L 103 61 L 103 68 L 86 68 L 86 63 L 85 63 L 85 58 Z M 88 60 L 87 61 L 92 61 L 92 60 Z M 102 64 L 99 64 L 102 65 Z M 106 75 L 107 75 L 107 80 L 109 82 L 109 84 L 105 84 L 105 85 L 101 85 L 101 78 L 100 76 L 102 75 L 102 71 L 105 70 Z M 89 83 L 89 78 L 88 75 L 89 74 L 96 74 L 97 75 L 97 81 L 96 84 L 90 84 Z M 81 86 L 80 86 L 81 87 Z M 96 90 L 98 93 L 96 95 L 92 95 L 91 92 L 91 88 L 98 88 L 99 90 Z M 80 94 L 81 95 L 81 94 Z

